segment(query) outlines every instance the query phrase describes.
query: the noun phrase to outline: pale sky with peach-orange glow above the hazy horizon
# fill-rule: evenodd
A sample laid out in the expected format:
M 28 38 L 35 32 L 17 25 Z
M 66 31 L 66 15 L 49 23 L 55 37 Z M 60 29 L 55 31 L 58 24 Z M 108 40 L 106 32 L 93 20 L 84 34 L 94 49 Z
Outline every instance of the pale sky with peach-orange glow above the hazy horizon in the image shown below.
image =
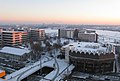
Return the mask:
M 120 25 L 120 0 L 0 0 L 0 23 Z

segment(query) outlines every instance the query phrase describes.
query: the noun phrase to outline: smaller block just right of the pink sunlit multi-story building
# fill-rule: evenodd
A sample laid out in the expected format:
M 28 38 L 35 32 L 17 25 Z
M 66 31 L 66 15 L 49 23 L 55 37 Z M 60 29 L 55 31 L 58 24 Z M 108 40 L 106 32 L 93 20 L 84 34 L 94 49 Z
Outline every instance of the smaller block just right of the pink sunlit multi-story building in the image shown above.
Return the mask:
M 31 29 L 29 32 L 29 38 L 31 41 L 39 41 L 45 38 L 45 30 L 43 29 Z

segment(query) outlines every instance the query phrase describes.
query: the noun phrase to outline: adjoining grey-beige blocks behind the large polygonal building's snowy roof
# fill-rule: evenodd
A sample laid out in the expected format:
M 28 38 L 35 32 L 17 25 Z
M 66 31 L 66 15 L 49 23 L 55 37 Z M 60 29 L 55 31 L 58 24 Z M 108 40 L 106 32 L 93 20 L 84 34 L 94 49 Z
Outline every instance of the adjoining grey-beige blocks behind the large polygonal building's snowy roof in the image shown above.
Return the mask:
M 92 30 L 59 29 L 59 38 L 72 38 L 86 42 L 97 42 L 98 34 Z

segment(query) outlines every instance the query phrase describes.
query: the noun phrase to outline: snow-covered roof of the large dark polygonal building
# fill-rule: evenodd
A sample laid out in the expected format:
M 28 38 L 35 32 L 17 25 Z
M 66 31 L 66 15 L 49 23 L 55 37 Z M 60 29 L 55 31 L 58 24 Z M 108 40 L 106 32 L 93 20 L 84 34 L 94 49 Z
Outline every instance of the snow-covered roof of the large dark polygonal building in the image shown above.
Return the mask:
M 68 47 L 72 51 L 79 51 L 79 52 L 88 52 L 88 53 L 106 53 L 107 48 L 102 47 L 99 43 L 93 43 L 93 42 L 74 42 L 71 44 L 68 44 L 66 46 L 63 46 L 63 48 Z

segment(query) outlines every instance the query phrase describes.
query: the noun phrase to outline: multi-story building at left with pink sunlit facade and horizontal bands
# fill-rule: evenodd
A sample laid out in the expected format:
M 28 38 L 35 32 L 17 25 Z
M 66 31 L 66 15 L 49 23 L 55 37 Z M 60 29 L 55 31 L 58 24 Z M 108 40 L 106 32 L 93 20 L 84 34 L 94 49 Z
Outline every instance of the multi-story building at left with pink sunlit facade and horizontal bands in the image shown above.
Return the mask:
M 27 40 L 27 35 L 27 32 L 3 31 L 2 44 L 3 46 L 19 46 Z

